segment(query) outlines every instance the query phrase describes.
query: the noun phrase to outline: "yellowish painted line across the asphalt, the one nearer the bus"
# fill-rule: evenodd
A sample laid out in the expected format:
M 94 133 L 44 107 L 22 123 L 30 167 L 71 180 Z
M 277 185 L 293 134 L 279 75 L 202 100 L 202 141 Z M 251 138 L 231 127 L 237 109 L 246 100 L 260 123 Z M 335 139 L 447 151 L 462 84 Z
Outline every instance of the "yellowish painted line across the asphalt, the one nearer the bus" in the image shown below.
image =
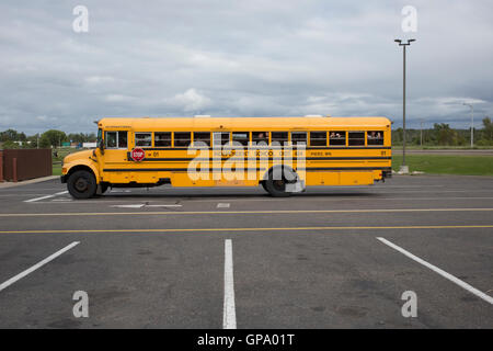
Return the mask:
M 238 215 L 296 213 L 398 213 L 398 212 L 490 212 L 493 208 L 367 208 L 367 210 L 278 210 L 278 211 L 161 211 L 161 212 L 62 212 L 62 213 L 2 213 L 0 217 L 57 216 L 152 216 L 152 215 Z

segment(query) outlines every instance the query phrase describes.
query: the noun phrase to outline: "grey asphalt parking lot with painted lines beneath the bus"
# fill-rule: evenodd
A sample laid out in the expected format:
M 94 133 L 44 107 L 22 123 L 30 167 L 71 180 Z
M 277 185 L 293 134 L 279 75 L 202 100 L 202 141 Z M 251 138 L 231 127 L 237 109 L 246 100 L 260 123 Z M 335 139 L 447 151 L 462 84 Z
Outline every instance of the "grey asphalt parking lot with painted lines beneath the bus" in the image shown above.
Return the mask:
M 1 328 L 493 327 L 493 178 L 85 201 L 53 180 L 1 189 L 0 224 Z

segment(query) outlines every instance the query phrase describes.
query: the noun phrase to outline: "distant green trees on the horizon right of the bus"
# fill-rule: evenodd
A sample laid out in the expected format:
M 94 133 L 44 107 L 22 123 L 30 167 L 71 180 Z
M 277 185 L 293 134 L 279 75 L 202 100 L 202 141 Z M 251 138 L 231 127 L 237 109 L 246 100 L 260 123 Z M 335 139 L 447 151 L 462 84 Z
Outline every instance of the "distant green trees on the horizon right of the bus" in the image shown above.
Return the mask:
M 392 145 L 402 145 L 402 128 L 392 131 Z M 471 129 L 452 129 L 446 123 L 435 123 L 432 129 L 406 129 L 406 145 L 423 146 L 470 146 Z M 474 128 L 474 146 L 493 146 L 493 123 L 483 118 L 481 129 Z

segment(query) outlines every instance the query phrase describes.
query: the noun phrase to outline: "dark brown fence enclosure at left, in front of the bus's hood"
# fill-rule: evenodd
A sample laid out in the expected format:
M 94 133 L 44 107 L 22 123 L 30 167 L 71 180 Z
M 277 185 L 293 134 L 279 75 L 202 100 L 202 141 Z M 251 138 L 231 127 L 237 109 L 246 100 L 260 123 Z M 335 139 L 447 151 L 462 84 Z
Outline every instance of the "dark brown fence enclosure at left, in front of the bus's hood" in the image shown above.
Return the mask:
M 0 150 L 0 181 L 51 176 L 51 149 Z

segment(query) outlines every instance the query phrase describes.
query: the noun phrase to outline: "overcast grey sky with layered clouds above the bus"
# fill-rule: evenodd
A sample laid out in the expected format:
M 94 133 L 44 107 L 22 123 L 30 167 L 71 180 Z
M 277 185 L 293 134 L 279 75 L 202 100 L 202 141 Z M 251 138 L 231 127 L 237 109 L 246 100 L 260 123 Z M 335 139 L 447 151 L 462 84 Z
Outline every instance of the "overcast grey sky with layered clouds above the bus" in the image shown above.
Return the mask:
M 76 5 L 89 32 L 76 33 Z M 417 32 L 401 29 L 404 5 Z M 0 131 L 93 132 L 104 116 L 493 117 L 493 3 L 162 0 L 0 3 Z

